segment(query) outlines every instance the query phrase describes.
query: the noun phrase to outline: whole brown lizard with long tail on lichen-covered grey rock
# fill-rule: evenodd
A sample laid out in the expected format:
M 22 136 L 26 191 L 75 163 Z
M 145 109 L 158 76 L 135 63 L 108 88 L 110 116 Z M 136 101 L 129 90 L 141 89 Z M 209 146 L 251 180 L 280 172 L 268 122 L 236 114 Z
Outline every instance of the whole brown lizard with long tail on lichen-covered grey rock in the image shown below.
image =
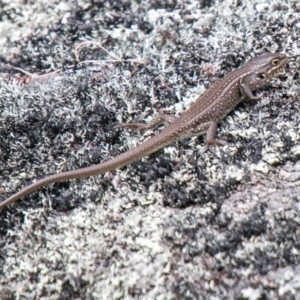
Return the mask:
M 288 57 L 283 53 L 262 53 L 249 60 L 244 66 L 213 83 L 178 118 L 160 113 L 148 124 L 129 123 L 116 126 L 149 129 L 161 123 L 169 123 L 167 127 L 150 139 L 105 162 L 50 175 L 28 185 L 1 202 L 0 211 L 23 196 L 50 183 L 95 176 L 121 168 L 183 138 L 206 133 L 207 145 L 225 145 L 224 141 L 216 139 L 219 121 L 243 99 L 258 101 L 264 93 L 254 96 L 252 92 L 266 85 L 274 76 L 282 73 L 287 62 Z

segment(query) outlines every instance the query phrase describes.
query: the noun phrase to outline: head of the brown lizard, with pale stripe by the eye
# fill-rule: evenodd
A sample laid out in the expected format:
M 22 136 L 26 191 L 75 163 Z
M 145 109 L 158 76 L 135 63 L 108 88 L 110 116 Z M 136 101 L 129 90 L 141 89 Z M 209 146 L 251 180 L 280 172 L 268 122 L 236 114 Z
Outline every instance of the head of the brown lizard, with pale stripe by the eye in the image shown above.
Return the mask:
M 263 53 L 245 64 L 248 72 L 243 81 L 251 90 L 266 85 L 273 77 L 284 74 L 288 57 L 283 53 Z

